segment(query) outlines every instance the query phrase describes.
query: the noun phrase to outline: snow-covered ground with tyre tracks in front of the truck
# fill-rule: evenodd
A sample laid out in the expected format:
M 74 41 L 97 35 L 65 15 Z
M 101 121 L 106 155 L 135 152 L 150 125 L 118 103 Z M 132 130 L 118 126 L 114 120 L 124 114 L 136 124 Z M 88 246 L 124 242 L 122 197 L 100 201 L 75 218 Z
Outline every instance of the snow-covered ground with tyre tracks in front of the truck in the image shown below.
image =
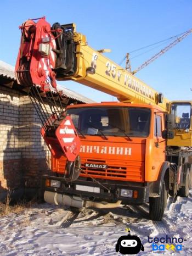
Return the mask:
M 183 237 L 183 248 L 192 247 L 192 193 L 189 198 L 168 200 L 162 221 L 148 219 L 148 205 L 104 210 L 64 210 L 39 204 L 21 214 L 1 218 L 0 255 L 122 255 L 115 244 L 122 235 L 137 235 L 145 251 L 138 255 L 191 255 L 192 251 L 152 251 L 150 237 Z M 176 245 L 176 244 L 175 244 Z

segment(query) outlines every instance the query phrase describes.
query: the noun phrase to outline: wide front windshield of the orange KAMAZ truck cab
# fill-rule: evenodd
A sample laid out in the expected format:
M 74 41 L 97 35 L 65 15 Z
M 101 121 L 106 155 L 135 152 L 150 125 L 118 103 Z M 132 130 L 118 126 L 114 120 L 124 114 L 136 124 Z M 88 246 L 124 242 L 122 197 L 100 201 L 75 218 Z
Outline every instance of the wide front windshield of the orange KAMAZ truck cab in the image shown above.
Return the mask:
M 133 107 L 92 107 L 67 110 L 83 135 L 147 137 L 150 109 Z

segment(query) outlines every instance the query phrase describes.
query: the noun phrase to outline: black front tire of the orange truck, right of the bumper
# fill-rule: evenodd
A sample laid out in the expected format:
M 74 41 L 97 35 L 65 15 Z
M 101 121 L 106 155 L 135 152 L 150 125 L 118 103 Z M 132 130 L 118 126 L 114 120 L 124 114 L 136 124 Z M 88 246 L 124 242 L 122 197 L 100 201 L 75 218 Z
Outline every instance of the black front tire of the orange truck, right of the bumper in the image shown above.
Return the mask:
M 163 181 L 160 197 L 149 198 L 149 218 L 151 220 L 162 220 L 167 204 L 167 191 Z

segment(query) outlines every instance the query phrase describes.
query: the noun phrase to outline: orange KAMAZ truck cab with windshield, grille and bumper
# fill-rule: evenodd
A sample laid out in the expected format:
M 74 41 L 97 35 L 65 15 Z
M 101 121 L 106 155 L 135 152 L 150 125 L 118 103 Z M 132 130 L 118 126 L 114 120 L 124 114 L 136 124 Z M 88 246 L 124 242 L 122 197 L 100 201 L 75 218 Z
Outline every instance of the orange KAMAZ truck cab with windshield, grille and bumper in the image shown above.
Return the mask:
M 169 167 L 162 138 L 165 114 L 160 108 L 105 102 L 71 105 L 66 115 L 81 138 L 81 174 L 67 182 L 66 158 L 52 157 L 56 175 L 49 181 L 56 187 L 48 183 L 47 202 L 65 204 L 68 195 L 71 206 L 78 201 L 78 207 L 89 201 L 142 204 L 149 202 L 150 194 L 159 195 Z

